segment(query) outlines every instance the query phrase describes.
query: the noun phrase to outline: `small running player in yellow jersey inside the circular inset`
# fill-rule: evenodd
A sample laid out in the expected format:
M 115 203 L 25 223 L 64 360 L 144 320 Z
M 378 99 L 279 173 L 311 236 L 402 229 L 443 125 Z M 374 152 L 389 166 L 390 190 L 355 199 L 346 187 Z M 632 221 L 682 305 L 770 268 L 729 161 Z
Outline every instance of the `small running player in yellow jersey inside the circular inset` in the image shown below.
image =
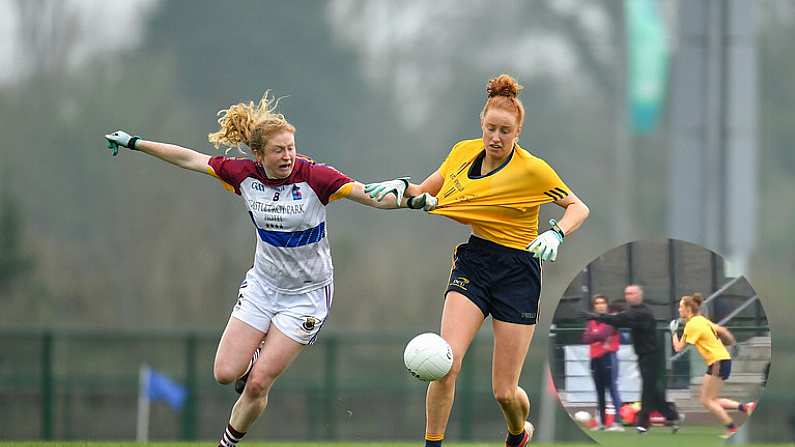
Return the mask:
M 679 301 L 679 316 L 685 321 L 685 329 L 680 339 L 677 335 L 679 320 L 671 322 L 672 344 L 676 352 L 681 352 L 691 344 L 704 359 L 707 372 L 701 385 L 701 404 L 726 426 L 726 433 L 722 437 L 729 438 L 737 433 L 737 426 L 726 410 L 739 410 L 750 415 L 756 404 L 718 397 L 723 383 L 729 379 L 732 367 L 731 355 L 721 340 L 725 340 L 730 345 L 734 344 L 735 340 L 728 329 L 713 323 L 701 314 L 703 301 L 703 297 L 698 293 L 683 296 Z

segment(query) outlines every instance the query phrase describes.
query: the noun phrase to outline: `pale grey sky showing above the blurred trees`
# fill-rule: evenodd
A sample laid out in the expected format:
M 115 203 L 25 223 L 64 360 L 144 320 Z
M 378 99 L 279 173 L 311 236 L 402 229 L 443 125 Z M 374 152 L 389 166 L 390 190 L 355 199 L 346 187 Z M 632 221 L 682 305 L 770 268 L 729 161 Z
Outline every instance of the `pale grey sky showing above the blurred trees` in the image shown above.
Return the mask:
M 159 1 L 39 2 L 45 17 L 42 23 L 54 25 L 52 30 L 39 31 L 38 35 L 44 36 L 40 46 L 45 54 L 59 54 L 57 25 L 62 25 L 62 17 L 66 17 L 79 24 L 68 66 L 74 67 L 99 52 L 134 48 Z M 0 0 L 0 85 L 33 69 L 30 58 L 23 54 L 26 46 L 20 41 L 18 5 L 25 2 Z M 356 52 L 359 69 L 373 86 L 390 86 L 403 124 L 413 128 L 432 113 L 436 98 L 428 91 L 445 94 L 444 87 L 457 76 L 464 57 L 484 69 L 513 61 L 503 69 L 520 79 L 576 76 L 577 62 L 565 37 L 517 19 L 527 15 L 527 4 L 510 0 L 498 3 L 495 7 L 491 2 L 458 0 L 330 0 L 318 5 L 327 8 L 337 42 Z M 610 23 L 604 11 L 593 6 L 598 3 L 589 6 L 575 0 L 537 0 L 534 4 L 560 16 L 574 17 L 579 28 L 596 42 L 600 57 L 614 57 L 609 46 Z M 516 17 L 506 19 L 512 15 Z M 27 47 L 31 45 L 35 46 L 28 43 Z

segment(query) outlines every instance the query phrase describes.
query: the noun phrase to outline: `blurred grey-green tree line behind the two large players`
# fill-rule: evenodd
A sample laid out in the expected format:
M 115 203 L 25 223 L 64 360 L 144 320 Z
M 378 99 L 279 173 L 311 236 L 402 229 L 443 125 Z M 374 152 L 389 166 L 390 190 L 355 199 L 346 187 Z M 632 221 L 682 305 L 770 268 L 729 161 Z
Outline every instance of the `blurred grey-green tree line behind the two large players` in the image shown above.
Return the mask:
M 111 157 L 103 134 L 124 128 L 211 153 L 206 136 L 217 126 L 216 111 L 271 89 L 287 95 L 281 110 L 298 128 L 300 152 L 363 182 L 399 175 L 421 180 L 452 144 L 480 135 L 483 87 L 501 72 L 515 74 L 525 86 L 523 146 L 549 161 L 592 209 L 587 225 L 567 239 L 561 260 L 545 269 L 543 312 L 551 315 L 580 266 L 628 240 L 665 237 L 666 173 L 660 166 L 667 162 L 665 124 L 635 139 L 636 230 L 620 240 L 610 236 L 616 116 L 611 86 L 621 66 L 605 48 L 616 48 L 620 36 L 589 40 L 593 31 L 553 3 L 520 7 L 506 18 L 511 26 L 494 29 L 494 41 L 482 47 L 479 34 L 467 31 L 482 25 L 482 14 L 456 19 L 461 30 L 453 37 L 468 40 L 450 40 L 447 51 L 444 39 L 425 49 L 428 58 L 445 58 L 455 76 L 437 85 L 429 75 L 427 82 L 411 84 L 410 92 L 368 80 L 360 52 L 335 32 L 328 4 L 161 2 L 141 45 L 76 67 L 68 64 L 70 52 L 79 50 L 71 36 L 83 22 L 68 11 L 23 14 L 20 42 L 35 70 L 0 87 L 6 148 L 0 324 L 220 331 L 228 318 L 255 243 L 239 198 L 210 178 L 141 154 Z M 607 29 L 620 21 L 614 3 L 592 3 L 613 23 Z M 758 253 L 764 256 L 756 257 L 752 279 L 772 284 L 757 286 L 763 296 L 765 290 L 792 287 L 795 269 L 795 212 L 782 206 L 795 190 L 789 144 L 795 136 L 795 86 L 789 82 L 795 61 L 782 57 L 792 54 L 795 24 L 775 14 L 776 4 L 760 3 Z M 35 5 L 63 8 L 59 2 Z M 497 43 L 510 41 L 522 23 L 568 42 L 575 61 L 570 76 L 518 67 L 516 54 L 507 50 L 500 57 Z M 42 44 L 53 39 L 58 45 Z M 367 39 L 362 32 L 359 40 Z M 412 95 L 428 95 L 431 105 L 424 119 L 408 126 L 395 102 Z M 547 207 L 543 214 L 559 211 Z M 466 228 L 348 201 L 329 207 L 329 223 L 337 284 L 330 327 L 437 326 L 450 252 L 466 238 Z M 791 307 L 776 301 L 776 308 L 785 306 Z

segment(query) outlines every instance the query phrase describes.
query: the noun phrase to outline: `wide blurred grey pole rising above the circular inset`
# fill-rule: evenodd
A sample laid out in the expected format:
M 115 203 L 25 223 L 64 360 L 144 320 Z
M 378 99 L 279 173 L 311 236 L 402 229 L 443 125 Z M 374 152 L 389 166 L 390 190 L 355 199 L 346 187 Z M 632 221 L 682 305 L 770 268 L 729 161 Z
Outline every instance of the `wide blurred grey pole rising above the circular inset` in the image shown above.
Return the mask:
M 757 215 L 755 3 L 679 3 L 671 89 L 673 237 L 723 255 L 747 274 Z

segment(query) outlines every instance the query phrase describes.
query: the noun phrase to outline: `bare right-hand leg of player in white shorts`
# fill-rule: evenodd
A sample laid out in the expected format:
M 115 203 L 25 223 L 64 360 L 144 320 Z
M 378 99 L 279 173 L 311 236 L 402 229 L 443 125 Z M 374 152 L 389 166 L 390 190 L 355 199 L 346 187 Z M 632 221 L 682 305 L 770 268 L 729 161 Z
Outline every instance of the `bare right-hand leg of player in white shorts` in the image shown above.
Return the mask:
M 259 360 L 254 363 L 243 394 L 232 407 L 229 425 L 245 433 L 268 405 L 270 392 L 276 378 L 287 369 L 304 349 L 304 345 L 284 335 L 271 325 L 262 346 Z

